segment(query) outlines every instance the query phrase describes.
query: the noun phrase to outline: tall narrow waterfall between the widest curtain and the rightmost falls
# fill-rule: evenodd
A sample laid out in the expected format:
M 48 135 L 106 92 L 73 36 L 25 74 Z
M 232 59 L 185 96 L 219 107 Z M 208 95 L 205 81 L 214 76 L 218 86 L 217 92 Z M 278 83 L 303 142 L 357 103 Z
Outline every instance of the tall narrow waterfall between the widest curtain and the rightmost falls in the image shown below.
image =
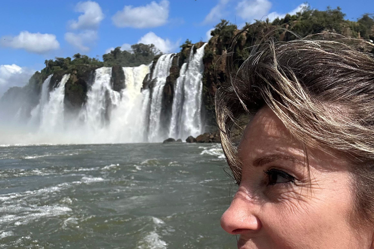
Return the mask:
M 148 140 L 149 142 L 160 142 L 162 136 L 160 134 L 164 131 L 165 127 L 161 127 L 161 108 L 162 108 L 162 95 L 166 78 L 170 73 L 174 53 L 163 54 L 157 60 L 152 73 L 152 82 L 154 86 L 152 89 L 152 96 L 150 102 L 150 126 Z

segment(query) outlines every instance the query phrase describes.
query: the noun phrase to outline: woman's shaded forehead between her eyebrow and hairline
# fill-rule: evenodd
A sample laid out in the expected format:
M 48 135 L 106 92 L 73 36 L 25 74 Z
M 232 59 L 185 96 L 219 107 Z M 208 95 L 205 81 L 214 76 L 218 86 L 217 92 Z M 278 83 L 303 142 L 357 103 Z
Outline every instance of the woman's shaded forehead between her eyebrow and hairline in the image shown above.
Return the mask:
M 319 149 L 305 147 L 292 136 L 269 107 L 260 109 L 246 126 L 238 152 L 242 162 L 250 160 L 251 164 L 263 157 L 295 158 L 304 162 L 305 149 L 309 162 L 318 168 L 318 165 L 323 165 L 323 168 L 320 168 L 323 171 L 347 169 L 347 160 Z

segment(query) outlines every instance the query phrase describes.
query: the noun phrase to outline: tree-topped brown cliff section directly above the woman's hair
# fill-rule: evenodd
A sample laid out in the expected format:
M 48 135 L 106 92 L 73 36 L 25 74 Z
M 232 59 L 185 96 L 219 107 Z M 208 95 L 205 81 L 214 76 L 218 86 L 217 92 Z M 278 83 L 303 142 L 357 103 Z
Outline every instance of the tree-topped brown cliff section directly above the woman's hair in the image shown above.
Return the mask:
M 374 15 L 364 14 L 357 21 L 345 19 L 338 7 L 325 11 L 305 6 L 295 15 L 273 21 L 266 19 L 247 23 L 244 30 L 222 19 L 211 32 L 213 36 L 205 49 L 203 101 L 207 112 L 207 125 L 214 125 L 214 95 L 220 84 L 229 79 L 224 54 L 233 52 L 233 70 L 236 71 L 248 57 L 253 45 L 269 37 L 279 41 L 290 41 L 318 33 L 337 33 L 347 38 L 374 40 Z M 231 47 L 230 47 L 231 46 Z M 366 52 L 374 53 L 366 48 Z

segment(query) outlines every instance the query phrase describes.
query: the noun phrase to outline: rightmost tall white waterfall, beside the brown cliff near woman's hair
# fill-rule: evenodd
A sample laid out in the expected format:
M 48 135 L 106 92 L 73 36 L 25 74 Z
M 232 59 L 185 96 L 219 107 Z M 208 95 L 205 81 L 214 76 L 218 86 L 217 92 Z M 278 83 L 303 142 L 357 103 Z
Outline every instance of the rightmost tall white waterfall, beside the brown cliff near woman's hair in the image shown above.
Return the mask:
M 201 118 L 203 89 L 203 56 L 207 43 L 197 49 L 193 48 L 177 79 L 174 89 L 174 100 L 169 128 L 169 137 L 185 139 L 198 136 L 203 132 Z

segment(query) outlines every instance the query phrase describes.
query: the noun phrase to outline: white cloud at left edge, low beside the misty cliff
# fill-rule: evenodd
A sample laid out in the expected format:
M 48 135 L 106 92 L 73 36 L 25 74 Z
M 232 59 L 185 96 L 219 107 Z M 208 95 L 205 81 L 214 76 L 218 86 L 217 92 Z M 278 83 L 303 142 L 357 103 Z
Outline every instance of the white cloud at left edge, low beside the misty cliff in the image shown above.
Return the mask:
M 16 64 L 0 65 L 0 97 L 11 87 L 26 85 L 34 71 Z

